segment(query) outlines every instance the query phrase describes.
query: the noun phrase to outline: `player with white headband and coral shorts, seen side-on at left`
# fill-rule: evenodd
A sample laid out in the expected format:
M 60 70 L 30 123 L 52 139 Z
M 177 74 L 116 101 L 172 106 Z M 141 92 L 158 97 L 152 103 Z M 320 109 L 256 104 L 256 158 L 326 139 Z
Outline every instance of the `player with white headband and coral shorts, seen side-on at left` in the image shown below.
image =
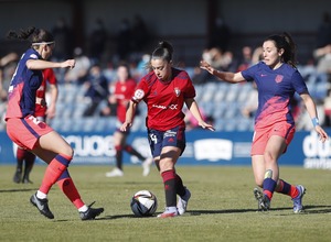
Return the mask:
M 49 219 L 54 215 L 49 208 L 47 194 L 57 183 L 62 191 L 77 208 L 82 220 L 95 219 L 104 208 L 92 208 L 81 199 L 67 167 L 73 158 L 71 145 L 45 122 L 35 117 L 36 92 L 43 81 L 42 70 L 46 68 L 74 68 L 75 59 L 56 63 L 49 62 L 55 47 L 54 37 L 49 31 L 35 28 L 9 32 L 9 37 L 30 40 L 31 47 L 22 55 L 10 82 L 8 109 L 6 113 L 9 138 L 46 164 L 44 178 L 30 202 Z

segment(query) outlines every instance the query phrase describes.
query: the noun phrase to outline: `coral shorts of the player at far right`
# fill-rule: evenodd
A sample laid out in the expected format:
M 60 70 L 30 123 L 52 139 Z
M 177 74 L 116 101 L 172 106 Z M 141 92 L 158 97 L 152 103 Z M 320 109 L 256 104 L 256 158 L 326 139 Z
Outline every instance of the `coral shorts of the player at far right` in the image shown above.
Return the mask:
M 264 155 L 268 140 L 273 135 L 284 138 L 288 146 L 295 136 L 295 132 L 296 127 L 288 122 L 278 122 L 265 129 L 256 129 L 253 136 L 250 155 Z

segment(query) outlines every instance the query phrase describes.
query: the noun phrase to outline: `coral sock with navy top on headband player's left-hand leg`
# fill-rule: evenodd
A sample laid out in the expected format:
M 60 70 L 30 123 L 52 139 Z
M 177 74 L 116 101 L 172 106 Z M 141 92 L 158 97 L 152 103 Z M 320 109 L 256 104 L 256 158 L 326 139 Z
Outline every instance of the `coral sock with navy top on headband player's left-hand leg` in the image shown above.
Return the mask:
M 66 170 L 72 157 L 65 157 L 64 155 L 56 155 L 55 158 L 49 164 L 42 185 L 39 188 L 40 191 L 49 194 L 51 187 L 56 183 L 58 177 Z

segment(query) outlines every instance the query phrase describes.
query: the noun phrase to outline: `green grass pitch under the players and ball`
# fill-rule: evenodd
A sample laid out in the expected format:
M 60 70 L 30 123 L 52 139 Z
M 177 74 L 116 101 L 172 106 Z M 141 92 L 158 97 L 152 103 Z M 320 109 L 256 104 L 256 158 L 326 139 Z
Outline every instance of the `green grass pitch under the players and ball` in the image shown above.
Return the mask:
M 31 174 L 34 184 L 14 184 L 14 166 L 0 166 L 0 241 L 330 241 L 330 170 L 280 167 L 281 177 L 307 188 L 306 211 L 292 212 L 289 197 L 275 194 L 271 210 L 257 212 L 250 167 L 178 166 L 192 193 L 188 212 L 170 219 L 136 218 L 131 196 L 141 189 L 158 198 L 163 211 L 162 179 L 153 167 L 142 177 L 138 166 L 126 166 L 125 176 L 107 178 L 107 166 L 70 167 L 83 200 L 105 212 L 94 221 L 81 221 L 77 210 L 57 186 L 49 195 L 55 219 L 41 216 L 30 201 L 45 166 Z

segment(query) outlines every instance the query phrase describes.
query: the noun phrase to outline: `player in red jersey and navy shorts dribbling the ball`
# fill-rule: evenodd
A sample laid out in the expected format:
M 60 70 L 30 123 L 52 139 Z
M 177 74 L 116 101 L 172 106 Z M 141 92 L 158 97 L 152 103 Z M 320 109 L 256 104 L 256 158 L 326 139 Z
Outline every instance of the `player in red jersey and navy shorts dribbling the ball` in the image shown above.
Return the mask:
M 147 74 L 135 91 L 129 103 L 121 131 L 132 125 L 137 105 L 147 105 L 146 125 L 150 148 L 162 176 L 166 191 L 166 211 L 158 217 L 169 218 L 183 215 L 191 197 L 183 186 L 174 165 L 185 148 L 185 122 L 182 111 L 184 103 L 203 129 L 214 130 L 200 114 L 195 89 L 185 70 L 172 67 L 172 45 L 160 42 L 150 61 L 152 72 Z M 177 202 L 177 195 L 179 200 Z

